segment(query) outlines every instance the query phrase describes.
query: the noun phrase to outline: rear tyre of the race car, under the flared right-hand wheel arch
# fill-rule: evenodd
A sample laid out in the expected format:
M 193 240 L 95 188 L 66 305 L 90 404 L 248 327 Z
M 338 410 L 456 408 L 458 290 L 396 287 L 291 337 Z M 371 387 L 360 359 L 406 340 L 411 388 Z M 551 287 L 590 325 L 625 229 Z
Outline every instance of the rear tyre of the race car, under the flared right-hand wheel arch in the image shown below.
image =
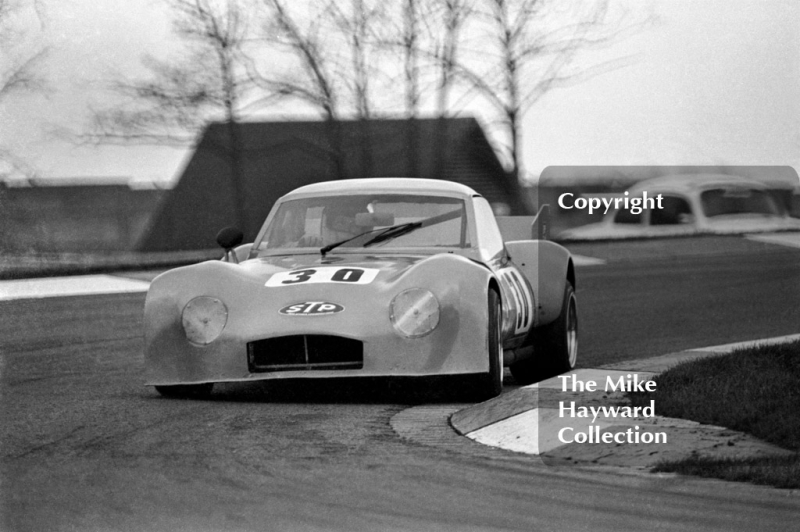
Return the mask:
M 578 303 L 567 281 L 558 318 L 534 331 L 533 357 L 511 365 L 514 380 L 522 385 L 559 375 L 575 368 L 578 361 Z

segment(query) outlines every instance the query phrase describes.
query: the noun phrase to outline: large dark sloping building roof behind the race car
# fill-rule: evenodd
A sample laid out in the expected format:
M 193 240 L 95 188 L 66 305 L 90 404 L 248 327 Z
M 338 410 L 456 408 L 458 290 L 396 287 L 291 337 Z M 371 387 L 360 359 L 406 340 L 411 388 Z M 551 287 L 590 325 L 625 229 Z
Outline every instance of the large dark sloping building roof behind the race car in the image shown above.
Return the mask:
M 239 226 L 245 239 L 252 239 L 278 198 L 312 183 L 340 179 L 454 181 L 490 203 L 507 204 L 514 214 L 527 213 L 522 195 L 474 118 L 245 122 L 238 124 L 238 135 L 239 192 L 229 124 L 210 124 L 139 249 L 214 247 L 217 231 L 229 225 Z

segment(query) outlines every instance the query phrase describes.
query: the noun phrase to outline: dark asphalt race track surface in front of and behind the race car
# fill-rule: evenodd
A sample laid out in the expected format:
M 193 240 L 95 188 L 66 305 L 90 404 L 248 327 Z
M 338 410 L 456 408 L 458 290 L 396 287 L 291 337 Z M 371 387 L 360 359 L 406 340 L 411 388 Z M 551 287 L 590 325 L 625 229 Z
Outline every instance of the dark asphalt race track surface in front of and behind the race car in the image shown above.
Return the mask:
M 578 246 L 612 259 L 578 272 L 581 365 L 799 332 L 800 249 L 731 242 L 629 260 Z M 420 400 L 402 387 L 162 399 L 141 384 L 143 299 L 0 302 L 3 530 L 779 531 L 800 518 L 797 492 L 483 447 L 447 426 L 463 405 L 409 410 Z

